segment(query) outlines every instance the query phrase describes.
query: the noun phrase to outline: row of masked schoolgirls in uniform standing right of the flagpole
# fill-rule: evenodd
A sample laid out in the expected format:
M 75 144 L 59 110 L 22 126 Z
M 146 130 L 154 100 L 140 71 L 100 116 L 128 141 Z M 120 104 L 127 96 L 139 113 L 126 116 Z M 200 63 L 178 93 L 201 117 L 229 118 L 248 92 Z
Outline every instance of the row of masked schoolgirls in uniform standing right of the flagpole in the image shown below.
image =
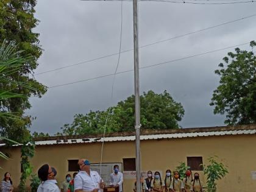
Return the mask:
M 180 174 L 178 171 L 174 171 L 173 176 L 171 175 L 171 170 L 167 169 L 165 172 L 165 179 L 163 180 L 160 172 L 155 171 L 154 178 L 152 176 L 152 171 L 148 171 L 147 178 L 141 180 L 143 191 L 150 192 L 203 192 L 203 185 L 199 178 L 199 173 L 194 173 L 194 178 L 192 172 L 188 169 L 185 173 L 185 178 L 180 179 Z M 135 183 L 136 186 L 136 183 Z M 133 189 L 136 192 L 136 187 Z

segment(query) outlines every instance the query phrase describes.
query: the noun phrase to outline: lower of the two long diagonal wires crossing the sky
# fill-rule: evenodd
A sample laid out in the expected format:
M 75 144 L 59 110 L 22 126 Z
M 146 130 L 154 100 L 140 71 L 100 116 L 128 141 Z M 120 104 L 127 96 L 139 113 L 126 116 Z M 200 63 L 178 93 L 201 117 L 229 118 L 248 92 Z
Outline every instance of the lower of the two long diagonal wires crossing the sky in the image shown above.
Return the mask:
M 180 59 L 174 59 L 174 60 L 169 60 L 167 62 L 162 62 L 162 63 L 153 64 L 153 65 L 143 66 L 140 69 L 151 68 L 151 67 L 154 67 L 154 66 L 164 65 L 166 63 L 172 63 L 172 62 L 177 62 L 177 61 L 184 60 L 184 59 L 190 59 L 190 58 L 193 58 L 193 57 L 197 57 L 197 56 L 201 56 L 201 55 L 205 55 L 205 54 L 210 54 L 210 53 L 213 53 L 213 52 L 218 52 L 218 51 L 222 51 L 222 50 L 225 50 L 225 49 L 230 49 L 230 48 L 234 48 L 234 47 L 238 47 L 238 46 L 243 46 L 243 45 L 246 45 L 246 44 L 249 44 L 249 43 L 236 44 L 236 45 L 229 46 L 229 47 L 226 47 L 226 48 L 215 49 L 213 51 L 203 52 L 201 54 L 189 55 L 187 57 L 182 57 Z M 126 70 L 126 71 L 120 71 L 116 74 L 127 73 L 127 72 L 130 72 L 130 71 L 133 71 L 133 69 Z M 110 76 L 113 76 L 113 75 L 115 75 L 115 74 L 114 73 L 113 74 L 106 74 L 106 75 L 103 75 L 103 76 L 93 77 L 93 78 L 84 79 L 84 80 L 78 80 L 78 81 L 70 82 L 70 83 L 67 83 L 67 84 L 54 85 L 54 86 L 48 87 L 48 88 L 62 87 L 62 86 L 65 86 L 65 85 L 71 85 L 71 84 L 77 84 L 77 83 L 80 83 L 80 82 L 87 82 L 87 81 L 90 81 L 90 80 L 101 79 L 103 77 L 110 77 Z

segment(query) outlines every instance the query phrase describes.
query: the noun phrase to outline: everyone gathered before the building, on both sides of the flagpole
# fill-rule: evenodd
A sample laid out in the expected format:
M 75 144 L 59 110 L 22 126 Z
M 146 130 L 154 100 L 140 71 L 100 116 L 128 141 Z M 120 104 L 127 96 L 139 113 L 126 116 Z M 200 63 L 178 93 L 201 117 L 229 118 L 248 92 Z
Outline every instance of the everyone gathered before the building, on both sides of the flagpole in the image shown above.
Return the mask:
M 61 185 L 62 192 L 102 192 L 105 187 L 104 181 L 99 176 L 98 172 L 90 169 L 90 162 L 86 159 L 80 159 L 78 161 L 80 168 L 79 172 L 71 175 L 66 175 L 65 182 Z M 41 180 L 37 192 L 60 192 L 57 185 L 55 176 L 57 171 L 45 164 L 38 169 L 38 177 Z M 113 167 L 113 173 L 110 174 L 111 185 L 115 185 L 119 188 L 119 192 L 123 192 L 123 173 L 119 172 L 118 165 Z M 162 179 L 160 172 L 155 171 L 154 177 L 152 171 L 148 171 L 147 178 L 141 180 L 143 192 L 203 192 L 203 185 L 199 178 L 199 173 L 195 172 L 194 177 L 192 172 L 188 169 L 185 173 L 185 178 L 180 179 L 178 171 L 172 172 L 167 169 L 165 172 L 165 179 Z M 10 173 L 5 172 L 4 180 L 1 181 L 1 192 L 12 192 L 12 179 L 10 179 Z M 136 182 L 133 192 L 136 192 Z

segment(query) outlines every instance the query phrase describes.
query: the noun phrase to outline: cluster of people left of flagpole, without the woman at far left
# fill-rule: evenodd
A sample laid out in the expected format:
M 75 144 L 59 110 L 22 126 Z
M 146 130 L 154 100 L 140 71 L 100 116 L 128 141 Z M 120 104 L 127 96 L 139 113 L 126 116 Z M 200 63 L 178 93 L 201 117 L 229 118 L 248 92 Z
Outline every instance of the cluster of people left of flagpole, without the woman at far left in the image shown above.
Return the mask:
M 78 161 L 80 171 L 71 175 L 66 175 L 66 180 L 61 185 L 62 192 L 102 192 L 105 183 L 97 171 L 90 169 L 90 162 L 84 158 Z M 45 164 L 38 169 L 38 177 L 41 180 L 37 192 L 60 192 L 55 176 L 57 171 Z M 111 184 L 119 187 L 119 192 L 123 192 L 123 174 L 119 172 L 118 165 L 113 167 L 110 174 Z

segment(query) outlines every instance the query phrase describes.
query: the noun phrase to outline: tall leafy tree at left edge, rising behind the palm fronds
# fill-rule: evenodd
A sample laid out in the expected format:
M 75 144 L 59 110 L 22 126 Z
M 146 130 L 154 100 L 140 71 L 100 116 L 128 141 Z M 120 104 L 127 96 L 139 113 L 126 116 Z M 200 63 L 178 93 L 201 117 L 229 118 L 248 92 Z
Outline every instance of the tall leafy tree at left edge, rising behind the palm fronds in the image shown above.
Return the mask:
M 12 82 L 5 81 L 0 85 L 1 90 L 11 90 L 12 94 L 16 94 L 15 97 L 2 100 L 2 110 L 15 113 L 15 116 L 21 118 L 18 121 L 17 119 L 1 116 L 1 133 L 5 137 L 12 138 L 20 143 L 23 143 L 29 137 L 27 127 L 30 126 L 31 119 L 30 116 L 24 117 L 24 110 L 31 107 L 29 97 L 41 97 L 46 92 L 46 87 L 30 75 L 37 68 L 37 59 L 42 52 L 38 40 L 39 34 L 32 32 L 32 29 L 38 24 L 38 20 L 34 18 L 35 4 L 35 0 L 0 1 L 0 42 L 5 40 L 7 43 L 15 42 L 16 44 L 16 55 L 10 55 L 12 57 L 8 59 L 12 60 L 15 57 L 27 58 L 26 61 L 21 63 L 22 65 L 19 66 L 18 70 L 5 75 L 5 78 L 12 79 Z

